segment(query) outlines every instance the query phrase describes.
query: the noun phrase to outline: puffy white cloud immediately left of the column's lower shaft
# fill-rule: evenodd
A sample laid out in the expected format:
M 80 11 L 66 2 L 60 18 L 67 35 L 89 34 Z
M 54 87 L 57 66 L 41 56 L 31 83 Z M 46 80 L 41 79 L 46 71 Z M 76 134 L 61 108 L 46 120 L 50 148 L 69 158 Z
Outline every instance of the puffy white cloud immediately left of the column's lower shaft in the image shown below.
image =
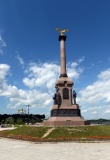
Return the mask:
M 58 71 L 59 66 L 57 64 L 31 63 L 25 71 L 28 76 L 23 79 L 23 83 L 30 88 L 40 87 L 51 89 L 58 78 Z

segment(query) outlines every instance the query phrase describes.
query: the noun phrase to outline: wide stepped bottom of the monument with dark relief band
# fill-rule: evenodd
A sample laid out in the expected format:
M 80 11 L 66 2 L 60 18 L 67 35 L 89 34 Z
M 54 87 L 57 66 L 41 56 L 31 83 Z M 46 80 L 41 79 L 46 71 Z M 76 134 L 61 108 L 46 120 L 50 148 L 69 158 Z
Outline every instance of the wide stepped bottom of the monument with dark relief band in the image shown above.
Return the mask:
M 79 105 L 61 106 L 54 105 L 51 110 L 51 117 L 44 122 L 44 126 L 79 126 L 90 125 L 80 113 Z

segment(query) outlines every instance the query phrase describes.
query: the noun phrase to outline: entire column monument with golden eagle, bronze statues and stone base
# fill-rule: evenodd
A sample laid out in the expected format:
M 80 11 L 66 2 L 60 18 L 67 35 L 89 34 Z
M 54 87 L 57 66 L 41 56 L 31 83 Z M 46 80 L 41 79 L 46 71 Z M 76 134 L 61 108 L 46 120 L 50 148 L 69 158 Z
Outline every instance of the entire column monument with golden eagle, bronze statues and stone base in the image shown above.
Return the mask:
M 56 93 L 54 94 L 54 104 L 51 109 L 50 118 L 44 122 L 45 126 L 75 126 L 75 125 L 89 125 L 80 112 L 80 107 L 76 102 L 76 92 L 72 86 L 74 82 L 68 78 L 66 71 L 66 49 L 65 42 L 67 36 L 65 32 L 69 30 L 61 30 L 60 32 L 60 76 L 55 84 Z

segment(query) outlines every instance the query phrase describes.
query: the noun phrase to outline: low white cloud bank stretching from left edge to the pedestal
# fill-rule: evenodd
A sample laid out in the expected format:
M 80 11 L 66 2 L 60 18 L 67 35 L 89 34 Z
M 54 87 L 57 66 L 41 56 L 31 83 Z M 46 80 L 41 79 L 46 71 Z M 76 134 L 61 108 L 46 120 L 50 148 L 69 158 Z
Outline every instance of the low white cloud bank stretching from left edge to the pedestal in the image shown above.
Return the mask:
M 10 66 L 0 64 L 0 96 L 8 98 L 8 107 L 16 108 L 30 103 L 33 107 L 46 107 L 52 102 L 51 95 L 37 90 L 22 90 L 7 83 L 6 76 Z

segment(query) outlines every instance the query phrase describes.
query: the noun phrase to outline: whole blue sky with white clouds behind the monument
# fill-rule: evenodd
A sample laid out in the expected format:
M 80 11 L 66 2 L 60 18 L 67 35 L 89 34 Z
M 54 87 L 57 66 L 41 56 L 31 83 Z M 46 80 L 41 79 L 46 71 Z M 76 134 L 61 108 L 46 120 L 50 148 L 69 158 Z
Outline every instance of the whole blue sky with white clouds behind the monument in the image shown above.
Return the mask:
M 59 77 L 59 33 L 85 119 L 110 118 L 110 1 L 0 0 L 0 114 L 31 104 L 50 115 Z

